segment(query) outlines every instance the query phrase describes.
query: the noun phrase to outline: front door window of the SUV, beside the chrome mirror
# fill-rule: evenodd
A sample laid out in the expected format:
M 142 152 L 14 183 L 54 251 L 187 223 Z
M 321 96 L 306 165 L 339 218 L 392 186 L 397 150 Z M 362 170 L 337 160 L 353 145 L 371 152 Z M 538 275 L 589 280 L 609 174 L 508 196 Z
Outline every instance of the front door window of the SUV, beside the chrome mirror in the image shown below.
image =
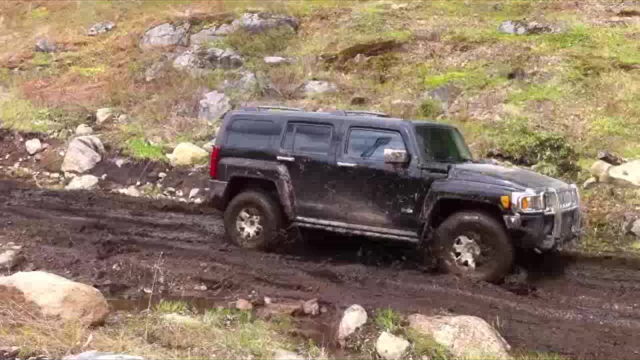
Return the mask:
M 347 156 L 367 160 L 385 160 L 385 149 L 406 150 L 404 140 L 397 131 L 351 129 L 347 143 Z

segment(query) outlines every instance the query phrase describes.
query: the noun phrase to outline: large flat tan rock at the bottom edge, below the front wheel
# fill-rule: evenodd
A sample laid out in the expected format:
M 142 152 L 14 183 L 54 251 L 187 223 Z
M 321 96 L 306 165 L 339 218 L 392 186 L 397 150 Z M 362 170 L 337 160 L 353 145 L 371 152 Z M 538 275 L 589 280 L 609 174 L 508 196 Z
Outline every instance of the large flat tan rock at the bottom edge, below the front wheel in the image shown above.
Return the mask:
M 491 325 L 476 316 L 409 316 L 409 327 L 447 347 L 455 357 L 509 358 L 509 344 Z

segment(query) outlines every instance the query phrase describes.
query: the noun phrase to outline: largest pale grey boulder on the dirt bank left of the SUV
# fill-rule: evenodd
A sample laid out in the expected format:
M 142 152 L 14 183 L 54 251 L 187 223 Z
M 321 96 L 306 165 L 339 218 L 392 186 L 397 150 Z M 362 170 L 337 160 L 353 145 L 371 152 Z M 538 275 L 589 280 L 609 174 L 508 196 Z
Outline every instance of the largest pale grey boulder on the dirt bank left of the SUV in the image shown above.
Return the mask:
M 104 156 L 104 145 L 96 136 L 78 136 L 71 140 L 61 170 L 83 173 L 91 170 Z

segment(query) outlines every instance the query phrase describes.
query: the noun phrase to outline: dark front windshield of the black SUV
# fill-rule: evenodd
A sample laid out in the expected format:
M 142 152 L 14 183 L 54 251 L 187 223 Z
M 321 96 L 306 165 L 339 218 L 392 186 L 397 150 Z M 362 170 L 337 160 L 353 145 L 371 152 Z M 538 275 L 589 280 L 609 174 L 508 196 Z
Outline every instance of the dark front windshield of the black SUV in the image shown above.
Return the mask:
M 473 161 L 460 131 L 454 127 L 416 126 L 418 144 L 427 159 L 440 163 Z

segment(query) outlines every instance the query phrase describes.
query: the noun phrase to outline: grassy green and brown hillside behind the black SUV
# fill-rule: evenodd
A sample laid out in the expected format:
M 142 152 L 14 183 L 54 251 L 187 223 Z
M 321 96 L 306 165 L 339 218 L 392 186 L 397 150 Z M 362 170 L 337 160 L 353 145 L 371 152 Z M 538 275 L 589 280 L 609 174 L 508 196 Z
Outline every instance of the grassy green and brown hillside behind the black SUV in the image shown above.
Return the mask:
M 189 20 L 195 33 L 248 11 L 292 15 L 300 28 L 239 33 L 213 44 L 232 47 L 244 69 L 282 94 L 230 92 L 236 106 L 358 108 L 450 122 L 476 156 L 538 163 L 538 170 L 573 181 L 588 177 L 598 150 L 640 156 L 640 5 L 619 1 L 3 1 L 0 99 L 10 100 L 0 103 L 0 121 L 57 132 L 90 123 L 97 108 L 111 106 L 129 119 L 100 131 L 125 154 L 162 160 L 179 141 L 204 142 L 214 129 L 176 108 L 197 106 L 202 89 L 237 72 L 194 77 L 170 70 L 147 82 L 145 71 L 164 52 L 141 51 L 140 37 L 154 24 Z M 557 31 L 497 31 L 504 20 L 525 18 Z M 104 20 L 115 29 L 86 35 Z M 60 51 L 35 53 L 40 37 L 54 39 Z M 392 50 L 364 60 L 344 52 L 387 40 Z M 273 67 L 264 56 L 295 61 Z M 310 79 L 332 81 L 339 91 L 297 97 L 292 90 Z M 424 96 L 442 86 L 458 94 L 447 111 Z M 618 221 L 640 197 L 610 190 L 584 194 L 590 249 L 629 245 Z

